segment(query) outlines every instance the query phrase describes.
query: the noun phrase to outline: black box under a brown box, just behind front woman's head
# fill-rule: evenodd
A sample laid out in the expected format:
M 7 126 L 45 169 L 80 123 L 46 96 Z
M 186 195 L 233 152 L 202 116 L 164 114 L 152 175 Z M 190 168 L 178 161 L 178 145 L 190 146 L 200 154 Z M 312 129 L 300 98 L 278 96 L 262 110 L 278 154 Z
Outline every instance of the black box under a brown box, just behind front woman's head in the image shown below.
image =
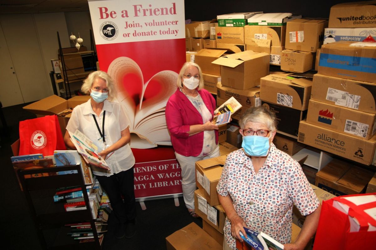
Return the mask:
M 261 105 L 274 112 L 277 117 L 277 130 L 288 135 L 297 136 L 299 122 L 306 118 L 307 111 L 289 108 L 270 102 L 261 101 Z

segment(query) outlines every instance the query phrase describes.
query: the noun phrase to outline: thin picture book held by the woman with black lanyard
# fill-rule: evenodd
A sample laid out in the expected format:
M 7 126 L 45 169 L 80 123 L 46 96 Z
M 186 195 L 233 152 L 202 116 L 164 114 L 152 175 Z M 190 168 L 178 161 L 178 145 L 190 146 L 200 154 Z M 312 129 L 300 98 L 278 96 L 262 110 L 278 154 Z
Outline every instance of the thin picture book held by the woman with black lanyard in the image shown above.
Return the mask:
M 98 147 L 80 130 L 77 129 L 74 133 L 69 132 L 69 135 L 78 153 L 82 155 L 86 163 L 110 170 L 105 160 L 98 155 Z

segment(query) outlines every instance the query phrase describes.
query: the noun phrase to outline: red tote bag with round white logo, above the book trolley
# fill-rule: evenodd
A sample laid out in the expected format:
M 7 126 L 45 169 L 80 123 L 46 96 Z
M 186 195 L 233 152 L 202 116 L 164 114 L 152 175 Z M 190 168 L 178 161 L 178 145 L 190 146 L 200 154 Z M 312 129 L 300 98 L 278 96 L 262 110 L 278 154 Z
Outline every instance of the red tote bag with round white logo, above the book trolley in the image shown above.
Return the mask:
M 56 115 L 20 121 L 20 156 L 51 156 L 54 150 L 66 150 Z

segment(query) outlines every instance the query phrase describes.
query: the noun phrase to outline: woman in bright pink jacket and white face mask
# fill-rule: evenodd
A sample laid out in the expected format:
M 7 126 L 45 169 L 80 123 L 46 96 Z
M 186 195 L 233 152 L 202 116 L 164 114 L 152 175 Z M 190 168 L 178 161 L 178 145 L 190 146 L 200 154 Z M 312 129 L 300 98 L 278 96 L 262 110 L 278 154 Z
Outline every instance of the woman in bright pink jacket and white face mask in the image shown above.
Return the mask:
M 215 99 L 205 89 L 202 72 L 196 63 L 183 65 L 177 90 L 166 105 L 167 127 L 176 159 L 182 169 L 183 198 L 192 217 L 196 190 L 196 161 L 219 156 L 218 126 L 211 123 Z

